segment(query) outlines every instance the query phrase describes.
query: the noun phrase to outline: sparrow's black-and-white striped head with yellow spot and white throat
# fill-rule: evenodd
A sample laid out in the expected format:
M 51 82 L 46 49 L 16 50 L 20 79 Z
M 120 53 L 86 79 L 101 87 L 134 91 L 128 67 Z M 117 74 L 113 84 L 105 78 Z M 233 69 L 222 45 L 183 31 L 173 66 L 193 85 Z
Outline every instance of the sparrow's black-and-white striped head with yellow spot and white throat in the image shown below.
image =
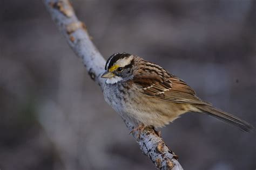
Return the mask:
M 107 84 L 132 79 L 132 67 L 134 56 L 128 53 L 114 53 L 106 61 L 102 78 L 106 78 Z

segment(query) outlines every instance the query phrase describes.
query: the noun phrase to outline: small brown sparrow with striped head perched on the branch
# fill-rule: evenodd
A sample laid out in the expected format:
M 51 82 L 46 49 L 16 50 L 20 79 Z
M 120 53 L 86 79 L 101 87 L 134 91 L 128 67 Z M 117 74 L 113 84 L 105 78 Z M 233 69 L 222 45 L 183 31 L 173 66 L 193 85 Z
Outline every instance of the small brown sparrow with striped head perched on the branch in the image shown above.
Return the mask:
M 145 127 L 163 128 L 186 112 L 205 113 L 250 132 L 253 126 L 211 103 L 201 100 L 179 77 L 163 67 L 125 52 L 114 53 L 106 61 L 105 101 L 129 121 L 134 131 Z

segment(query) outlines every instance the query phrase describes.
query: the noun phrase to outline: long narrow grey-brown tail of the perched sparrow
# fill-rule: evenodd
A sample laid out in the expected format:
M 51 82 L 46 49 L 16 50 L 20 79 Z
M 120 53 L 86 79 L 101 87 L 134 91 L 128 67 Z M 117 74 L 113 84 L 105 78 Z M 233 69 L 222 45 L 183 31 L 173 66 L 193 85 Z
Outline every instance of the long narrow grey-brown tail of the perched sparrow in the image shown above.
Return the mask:
M 225 111 L 214 108 L 210 105 L 203 105 L 203 104 L 196 105 L 196 107 L 198 109 L 200 109 L 201 111 L 206 112 L 208 115 L 220 119 L 221 121 L 238 126 L 242 131 L 250 132 L 253 130 L 253 126 L 250 123 L 248 123 L 236 116 L 228 114 Z

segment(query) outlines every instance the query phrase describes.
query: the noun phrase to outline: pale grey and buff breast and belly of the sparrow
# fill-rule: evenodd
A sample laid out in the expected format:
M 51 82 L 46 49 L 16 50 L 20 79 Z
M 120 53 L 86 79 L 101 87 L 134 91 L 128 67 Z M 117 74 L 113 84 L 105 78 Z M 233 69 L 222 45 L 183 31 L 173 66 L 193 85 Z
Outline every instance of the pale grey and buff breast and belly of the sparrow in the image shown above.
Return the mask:
M 141 94 L 133 91 L 129 91 L 129 97 L 124 98 L 120 92 L 117 93 L 117 90 L 116 87 L 105 87 L 105 100 L 120 116 L 134 125 L 143 123 L 162 127 L 187 112 L 186 104 L 155 100 L 148 96 L 142 97 Z

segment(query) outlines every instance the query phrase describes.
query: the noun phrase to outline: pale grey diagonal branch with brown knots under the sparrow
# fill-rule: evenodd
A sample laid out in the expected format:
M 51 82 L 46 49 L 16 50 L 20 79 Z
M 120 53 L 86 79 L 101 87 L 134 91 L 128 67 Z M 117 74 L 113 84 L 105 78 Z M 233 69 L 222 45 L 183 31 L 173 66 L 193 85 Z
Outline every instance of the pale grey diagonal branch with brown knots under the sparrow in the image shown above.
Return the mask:
M 106 61 L 95 45 L 93 45 L 85 24 L 77 19 L 68 0 L 44 0 L 44 3 L 70 47 L 83 60 L 91 79 L 98 83 L 103 90 L 105 81 L 100 78 L 100 75 L 104 72 Z M 124 122 L 130 131 L 134 128 L 125 119 Z M 139 138 L 137 138 L 137 134 L 138 132 L 135 132 L 133 137 L 136 139 L 142 152 L 151 159 L 156 168 L 183 169 L 177 160 L 177 156 L 154 129 L 147 127 L 140 133 Z

